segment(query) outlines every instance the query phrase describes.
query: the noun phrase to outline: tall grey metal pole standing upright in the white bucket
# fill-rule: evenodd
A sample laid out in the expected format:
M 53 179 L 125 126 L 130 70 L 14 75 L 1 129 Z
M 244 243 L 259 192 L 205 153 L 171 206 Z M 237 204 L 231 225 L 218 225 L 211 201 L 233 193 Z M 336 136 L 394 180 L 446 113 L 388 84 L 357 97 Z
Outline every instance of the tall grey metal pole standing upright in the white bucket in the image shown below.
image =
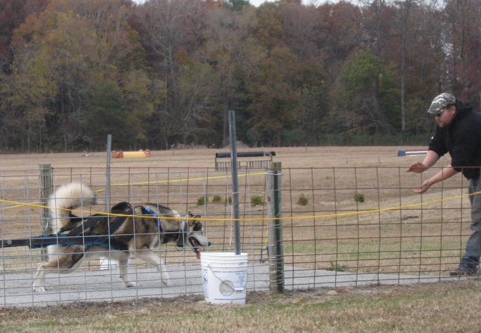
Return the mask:
M 235 254 L 240 254 L 240 214 L 239 214 L 239 184 L 237 179 L 237 146 L 235 145 L 235 111 L 229 110 L 230 134 L 230 168 L 232 171 L 232 202 L 234 206 L 234 239 Z

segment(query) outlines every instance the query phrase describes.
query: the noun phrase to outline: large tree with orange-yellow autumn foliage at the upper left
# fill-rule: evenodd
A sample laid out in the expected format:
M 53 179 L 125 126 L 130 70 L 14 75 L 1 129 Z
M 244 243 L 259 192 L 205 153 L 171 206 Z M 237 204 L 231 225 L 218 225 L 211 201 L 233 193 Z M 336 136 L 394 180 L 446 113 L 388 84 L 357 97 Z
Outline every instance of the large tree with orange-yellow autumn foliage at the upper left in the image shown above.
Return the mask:
M 96 5 L 94 1 L 83 4 Z M 125 22 L 119 18 L 122 6 L 118 6 L 116 14 L 110 12 L 99 22 L 98 16 L 89 14 L 88 9 L 77 7 L 75 12 L 68 11 L 72 9 L 69 5 L 68 1 L 52 1 L 38 17 L 27 18 L 16 30 L 12 43 L 19 55 L 15 65 L 29 57 L 45 64 L 43 80 L 28 79 L 46 81 L 55 87 L 54 92 L 49 90 L 53 95 L 48 96 L 37 91 L 40 87 L 30 87 L 33 95 L 47 99 L 43 102 L 48 104 L 49 112 L 44 121 L 52 146 L 64 151 L 78 148 L 79 144 L 88 146 L 103 139 L 112 127 L 117 128 L 121 144 L 145 142 L 141 121 L 153 109 L 148 98 L 150 80 L 141 74 L 147 66 L 138 35 L 125 23 L 124 31 L 118 31 Z M 80 16 L 82 13 L 85 16 Z M 109 20 L 118 24 L 109 28 Z M 25 75 L 38 72 L 27 70 Z M 102 100 L 99 92 L 109 92 L 105 97 L 110 100 Z M 147 98 L 142 100 L 139 96 Z M 102 121 L 95 121 L 99 117 Z M 118 119 L 128 125 L 119 127 Z M 108 123 L 102 126 L 102 122 Z M 110 126 L 110 122 L 117 122 L 117 126 Z

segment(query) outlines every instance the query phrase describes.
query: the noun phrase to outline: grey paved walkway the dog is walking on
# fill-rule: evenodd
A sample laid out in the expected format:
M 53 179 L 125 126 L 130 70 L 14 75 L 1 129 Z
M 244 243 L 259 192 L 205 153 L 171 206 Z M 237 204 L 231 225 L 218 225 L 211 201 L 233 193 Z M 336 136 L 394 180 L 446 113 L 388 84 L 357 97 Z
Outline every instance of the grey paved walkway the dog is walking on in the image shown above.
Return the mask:
M 0 307 L 45 306 L 74 301 L 119 301 L 145 297 L 174 297 L 185 294 L 203 294 L 200 265 L 169 266 L 169 285 L 163 286 L 160 273 L 153 268 L 131 267 L 131 280 L 138 281 L 137 288 L 125 288 L 117 269 L 50 274 L 47 281 L 51 289 L 44 293 L 32 291 L 35 273 L 0 272 Z M 402 274 L 350 273 L 312 270 L 285 266 L 287 290 L 320 287 L 397 285 L 432 283 L 456 280 L 447 276 L 413 276 Z M 248 291 L 269 289 L 269 265 L 250 264 L 248 267 Z

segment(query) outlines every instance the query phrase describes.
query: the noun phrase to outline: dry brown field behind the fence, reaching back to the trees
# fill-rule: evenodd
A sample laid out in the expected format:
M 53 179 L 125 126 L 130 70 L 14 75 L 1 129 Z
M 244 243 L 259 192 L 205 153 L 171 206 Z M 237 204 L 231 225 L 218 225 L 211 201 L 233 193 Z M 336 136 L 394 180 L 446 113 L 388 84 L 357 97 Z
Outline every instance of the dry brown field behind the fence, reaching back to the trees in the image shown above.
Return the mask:
M 459 223 L 469 220 L 467 198 L 369 214 L 300 218 L 417 205 L 463 193 L 460 187 L 465 187 L 467 182 L 460 175 L 423 196 L 412 193 L 412 188 L 421 183 L 421 177 L 407 174 L 405 169 L 422 156 L 398 157 L 398 149 L 399 147 L 264 149 L 276 151 L 274 159 L 282 162 L 282 184 L 285 189 L 283 212 L 285 218 L 293 217 L 292 220 L 283 221 L 286 263 L 309 268 L 330 268 L 335 262 L 360 272 L 420 270 L 438 274 L 452 268 L 463 244 L 460 238 L 467 233 L 466 223 Z M 190 210 L 206 218 L 228 218 L 230 211 L 224 203 L 209 202 L 208 205 L 197 206 L 198 198 L 204 194 L 210 200 L 216 194 L 222 198 L 228 196 L 228 175 L 222 177 L 222 174 L 210 174 L 217 151 L 219 150 L 152 151 L 149 158 L 112 159 L 111 179 L 114 186 L 111 202 L 153 201 L 180 211 Z M 38 186 L 38 167 L 41 163 L 52 165 L 56 185 L 82 180 L 92 186 L 100 198 L 104 195 L 106 153 L 90 153 L 89 156 L 84 156 L 83 153 L 18 154 L 5 157 L 0 159 L 4 187 L 7 184 L 5 199 L 35 198 L 35 190 L 27 190 Z M 448 161 L 448 157 L 443 157 L 438 165 L 446 165 Z M 437 170 L 428 171 L 427 176 Z M 206 181 L 207 176 L 209 179 Z M 245 211 L 241 217 L 246 219 L 242 223 L 243 243 L 254 242 L 256 251 L 265 244 L 267 222 L 249 219 L 266 217 L 266 213 L 263 207 L 250 207 L 249 198 L 252 194 L 264 195 L 264 183 L 264 175 L 239 179 L 242 192 L 240 208 Z M 134 193 L 135 197 L 132 198 Z M 356 193 L 363 194 L 366 201 L 354 201 L 353 195 Z M 301 206 L 297 203 L 301 194 L 308 198 L 308 205 Z M 102 211 L 103 204 L 92 209 Z M 12 233 L 10 238 L 35 236 L 39 233 L 37 208 L 3 209 L 2 214 L 2 219 L 8 221 L 3 225 L 4 232 Z M 26 219 L 28 224 L 25 223 Z M 209 229 L 209 237 L 215 244 L 229 242 L 231 235 L 228 222 L 206 221 L 205 224 Z M 12 253 L 11 256 L 15 257 L 15 254 Z M 34 265 L 37 259 L 39 258 L 33 258 Z M 16 262 L 18 260 L 12 259 L 9 263 Z M 27 265 L 30 264 L 31 262 Z

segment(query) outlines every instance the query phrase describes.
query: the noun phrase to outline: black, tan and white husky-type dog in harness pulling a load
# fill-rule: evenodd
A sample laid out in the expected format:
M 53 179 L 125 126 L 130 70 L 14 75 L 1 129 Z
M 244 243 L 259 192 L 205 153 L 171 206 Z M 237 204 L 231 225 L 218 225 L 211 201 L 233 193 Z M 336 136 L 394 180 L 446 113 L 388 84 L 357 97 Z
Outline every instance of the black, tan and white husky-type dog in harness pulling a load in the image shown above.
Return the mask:
M 160 244 L 176 242 L 178 247 L 188 247 L 200 258 L 200 248 L 209 246 L 203 235 L 202 224 L 190 212 L 181 216 L 176 211 L 155 204 L 132 207 L 122 202 L 112 207 L 111 212 L 124 216 L 104 216 L 101 214 L 84 218 L 72 214 L 72 210 L 96 203 L 93 191 L 81 183 L 70 183 L 60 187 L 48 200 L 48 227 L 51 234 L 75 234 L 81 230 L 84 241 L 49 245 L 48 261 L 38 266 L 34 279 L 34 291 L 45 291 L 45 276 L 48 273 L 71 273 L 82 268 L 85 260 L 111 258 L 118 262 L 120 278 L 126 287 L 137 286 L 127 274 L 129 256 L 134 256 L 154 265 L 161 272 L 164 285 L 169 275 L 161 257 L 152 252 Z M 89 218 L 95 224 L 87 225 Z M 92 236 L 94 235 L 94 236 Z M 103 242 L 91 242 L 97 235 L 104 235 Z M 59 237 L 60 238 L 60 237 Z M 102 237 L 98 238 L 101 239 Z M 106 240 L 106 241 L 105 241 Z M 61 241 L 60 241 L 61 242 Z

